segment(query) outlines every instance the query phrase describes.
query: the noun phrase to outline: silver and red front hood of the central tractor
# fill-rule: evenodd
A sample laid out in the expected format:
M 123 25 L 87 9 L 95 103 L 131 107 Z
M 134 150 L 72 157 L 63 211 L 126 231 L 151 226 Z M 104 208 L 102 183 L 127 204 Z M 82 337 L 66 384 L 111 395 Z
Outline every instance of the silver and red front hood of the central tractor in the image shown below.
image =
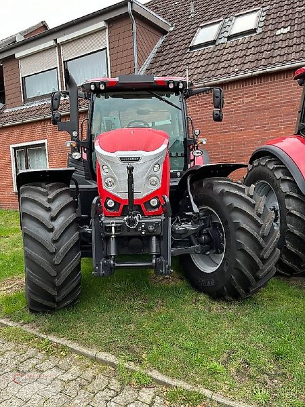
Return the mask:
M 95 152 L 104 189 L 121 199 L 128 198 L 127 165 L 134 167 L 134 197 L 143 197 L 162 186 L 168 195 L 168 135 L 147 127 L 117 129 L 100 134 Z M 111 181 L 109 184 L 109 180 Z M 102 192 L 101 192 L 102 195 Z

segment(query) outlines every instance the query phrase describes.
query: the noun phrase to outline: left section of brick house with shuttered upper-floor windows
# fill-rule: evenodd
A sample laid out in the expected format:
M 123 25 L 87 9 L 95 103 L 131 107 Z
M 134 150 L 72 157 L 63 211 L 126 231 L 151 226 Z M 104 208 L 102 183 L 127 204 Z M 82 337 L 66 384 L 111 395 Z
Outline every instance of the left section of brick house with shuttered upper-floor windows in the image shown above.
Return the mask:
M 0 208 L 18 207 L 17 171 L 67 166 L 68 135 L 51 125 L 49 103 L 52 91 L 65 90 L 64 67 L 78 84 L 134 72 L 133 19 L 142 67 L 171 25 L 140 3 L 126 0 L 51 29 L 42 22 L 0 43 L 5 103 L 0 105 Z M 62 104 L 64 117 L 68 107 Z M 82 103 L 81 121 L 86 110 Z

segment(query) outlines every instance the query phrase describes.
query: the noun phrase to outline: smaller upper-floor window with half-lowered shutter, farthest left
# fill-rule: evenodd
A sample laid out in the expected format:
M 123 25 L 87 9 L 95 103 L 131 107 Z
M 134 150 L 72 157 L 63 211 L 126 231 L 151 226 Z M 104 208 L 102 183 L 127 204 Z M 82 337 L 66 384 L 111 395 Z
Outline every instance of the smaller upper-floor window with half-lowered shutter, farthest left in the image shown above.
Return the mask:
M 48 95 L 58 91 L 57 69 L 54 68 L 24 77 L 23 90 L 25 99 Z

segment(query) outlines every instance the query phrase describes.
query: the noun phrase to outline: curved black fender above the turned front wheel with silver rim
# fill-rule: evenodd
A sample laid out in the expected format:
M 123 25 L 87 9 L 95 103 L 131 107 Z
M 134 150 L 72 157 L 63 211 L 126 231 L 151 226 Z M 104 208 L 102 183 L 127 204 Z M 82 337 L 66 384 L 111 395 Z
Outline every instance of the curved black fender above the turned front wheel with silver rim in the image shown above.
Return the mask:
M 247 168 L 247 164 L 238 163 L 224 163 L 224 164 L 206 164 L 206 165 L 194 165 L 187 169 L 184 175 L 181 177 L 174 194 L 173 202 L 177 206 L 180 199 L 184 196 L 185 191 L 188 189 L 188 178 L 191 176 L 191 183 L 204 180 L 210 177 L 228 177 L 228 175 L 239 168 Z M 175 211 L 176 208 L 174 208 Z

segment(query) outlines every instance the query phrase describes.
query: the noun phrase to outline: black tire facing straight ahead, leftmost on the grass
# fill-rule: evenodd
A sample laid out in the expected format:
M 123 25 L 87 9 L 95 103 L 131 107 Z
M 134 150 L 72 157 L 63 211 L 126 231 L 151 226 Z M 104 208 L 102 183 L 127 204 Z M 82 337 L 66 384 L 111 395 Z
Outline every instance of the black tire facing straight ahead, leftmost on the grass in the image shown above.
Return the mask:
M 20 188 L 25 296 L 31 311 L 57 310 L 80 295 L 80 241 L 75 203 L 62 183 Z

